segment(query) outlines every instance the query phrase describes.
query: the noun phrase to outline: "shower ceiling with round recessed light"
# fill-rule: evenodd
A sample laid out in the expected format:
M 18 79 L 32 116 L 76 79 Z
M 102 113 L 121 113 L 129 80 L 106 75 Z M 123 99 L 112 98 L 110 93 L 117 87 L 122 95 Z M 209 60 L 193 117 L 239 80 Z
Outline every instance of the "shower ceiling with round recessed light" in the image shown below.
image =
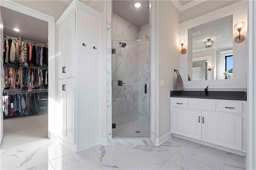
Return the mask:
M 140 2 L 142 6 L 135 8 L 133 4 Z M 137 27 L 149 23 L 149 1 L 148 0 L 113 0 L 113 12 Z

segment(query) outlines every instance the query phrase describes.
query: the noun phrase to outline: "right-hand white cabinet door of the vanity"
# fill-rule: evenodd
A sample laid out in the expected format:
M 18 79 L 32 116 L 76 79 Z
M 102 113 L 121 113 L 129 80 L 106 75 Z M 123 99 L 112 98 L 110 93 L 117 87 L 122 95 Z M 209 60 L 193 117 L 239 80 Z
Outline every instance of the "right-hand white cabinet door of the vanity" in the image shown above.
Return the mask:
M 202 141 L 242 150 L 242 116 L 202 112 Z

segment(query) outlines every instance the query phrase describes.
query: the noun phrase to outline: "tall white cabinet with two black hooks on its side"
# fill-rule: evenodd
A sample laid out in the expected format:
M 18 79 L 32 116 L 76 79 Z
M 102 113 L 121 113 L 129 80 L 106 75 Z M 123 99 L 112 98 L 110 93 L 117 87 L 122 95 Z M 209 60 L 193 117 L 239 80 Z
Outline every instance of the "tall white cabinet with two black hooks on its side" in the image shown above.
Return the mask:
M 73 1 L 58 26 L 58 112 L 62 139 L 76 152 L 100 144 L 102 14 Z

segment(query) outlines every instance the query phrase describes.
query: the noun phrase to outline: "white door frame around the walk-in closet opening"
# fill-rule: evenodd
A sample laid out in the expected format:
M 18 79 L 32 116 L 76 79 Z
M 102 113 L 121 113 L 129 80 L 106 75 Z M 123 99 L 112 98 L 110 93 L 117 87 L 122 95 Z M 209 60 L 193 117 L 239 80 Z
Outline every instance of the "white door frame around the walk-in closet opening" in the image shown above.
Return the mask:
M 55 18 L 13 1 L 2 0 L 0 6 L 48 22 L 48 138 L 55 133 Z M 1 94 L 2 96 L 2 94 Z

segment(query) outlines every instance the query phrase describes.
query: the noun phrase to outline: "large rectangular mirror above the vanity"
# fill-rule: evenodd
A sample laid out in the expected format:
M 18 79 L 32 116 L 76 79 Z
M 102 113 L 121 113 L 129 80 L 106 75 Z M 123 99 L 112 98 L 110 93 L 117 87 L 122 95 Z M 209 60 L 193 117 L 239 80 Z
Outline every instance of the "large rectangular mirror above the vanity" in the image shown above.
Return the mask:
M 189 28 L 188 42 L 192 42 L 188 53 L 192 81 L 233 78 L 233 15 Z

